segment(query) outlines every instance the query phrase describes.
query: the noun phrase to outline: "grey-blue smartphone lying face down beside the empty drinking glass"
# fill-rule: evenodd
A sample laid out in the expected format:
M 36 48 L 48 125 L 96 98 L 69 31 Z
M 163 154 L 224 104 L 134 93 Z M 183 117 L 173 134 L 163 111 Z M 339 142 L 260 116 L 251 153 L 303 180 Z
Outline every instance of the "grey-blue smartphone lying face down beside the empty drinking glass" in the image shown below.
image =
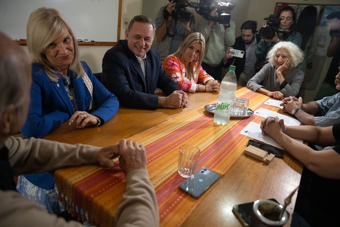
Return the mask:
M 179 189 L 187 192 L 194 198 L 199 198 L 203 192 L 205 192 L 221 175 L 216 172 L 202 167 L 194 175 L 187 178 L 182 184 L 179 185 Z

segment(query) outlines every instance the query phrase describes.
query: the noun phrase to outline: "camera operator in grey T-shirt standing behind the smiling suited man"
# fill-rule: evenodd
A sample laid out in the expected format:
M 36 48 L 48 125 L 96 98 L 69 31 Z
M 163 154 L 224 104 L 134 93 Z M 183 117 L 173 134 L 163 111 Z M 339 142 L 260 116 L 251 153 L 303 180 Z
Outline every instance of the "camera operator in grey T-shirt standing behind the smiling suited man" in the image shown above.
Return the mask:
M 184 39 L 195 32 L 195 16 L 187 9 L 189 0 L 170 0 L 156 15 L 156 49 L 161 62 L 177 51 Z

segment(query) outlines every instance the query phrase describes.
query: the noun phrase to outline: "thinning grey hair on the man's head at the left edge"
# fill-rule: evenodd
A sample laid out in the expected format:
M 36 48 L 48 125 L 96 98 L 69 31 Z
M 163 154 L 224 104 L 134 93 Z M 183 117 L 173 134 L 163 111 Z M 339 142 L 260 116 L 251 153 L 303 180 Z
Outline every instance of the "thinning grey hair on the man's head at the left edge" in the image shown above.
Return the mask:
M 24 50 L 0 32 L 0 115 L 8 105 L 20 110 L 29 89 L 31 63 Z M 29 74 L 29 75 L 28 75 Z

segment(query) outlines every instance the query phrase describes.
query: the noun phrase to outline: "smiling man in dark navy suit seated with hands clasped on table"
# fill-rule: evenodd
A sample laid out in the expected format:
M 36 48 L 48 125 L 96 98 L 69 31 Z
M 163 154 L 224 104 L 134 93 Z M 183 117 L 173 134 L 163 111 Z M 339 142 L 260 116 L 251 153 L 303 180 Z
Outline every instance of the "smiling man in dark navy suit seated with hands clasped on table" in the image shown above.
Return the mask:
M 157 109 L 186 107 L 187 93 L 163 70 L 159 53 L 151 47 L 155 26 L 149 17 L 136 16 L 126 40 L 108 50 L 102 60 L 102 83 L 127 107 Z M 154 94 L 160 88 L 166 96 Z

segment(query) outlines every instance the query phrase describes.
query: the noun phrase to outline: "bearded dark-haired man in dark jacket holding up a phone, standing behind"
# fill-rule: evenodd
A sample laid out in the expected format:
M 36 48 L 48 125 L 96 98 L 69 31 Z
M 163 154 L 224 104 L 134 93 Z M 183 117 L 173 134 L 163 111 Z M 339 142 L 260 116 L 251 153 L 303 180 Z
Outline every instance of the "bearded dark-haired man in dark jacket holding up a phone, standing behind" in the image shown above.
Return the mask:
M 241 26 L 241 36 L 236 38 L 234 46 L 228 48 L 222 59 L 223 68 L 227 68 L 234 63 L 234 66 L 236 66 L 236 78 L 240 86 L 246 86 L 248 80 L 255 75 L 255 63 L 257 60 L 255 50 L 257 43 L 260 41 L 260 38 L 256 35 L 256 28 L 256 21 L 247 20 L 244 22 Z M 231 54 L 232 49 L 243 51 L 243 57 L 234 57 Z

